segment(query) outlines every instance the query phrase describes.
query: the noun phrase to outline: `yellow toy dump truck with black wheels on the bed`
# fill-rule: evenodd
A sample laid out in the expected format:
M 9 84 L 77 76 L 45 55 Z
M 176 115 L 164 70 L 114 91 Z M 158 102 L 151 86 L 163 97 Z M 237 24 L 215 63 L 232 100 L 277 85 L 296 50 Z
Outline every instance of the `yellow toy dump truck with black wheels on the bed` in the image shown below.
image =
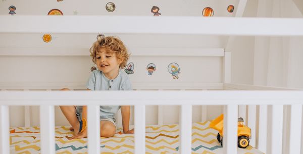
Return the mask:
M 222 114 L 210 123 L 211 128 L 219 131 L 217 140 L 221 143 L 221 146 L 223 145 L 223 118 Z M 250 128 L 243 125 L 243 118 L 238 118 L 238 147 L 246 148 L 249 145 L 250 132 Z

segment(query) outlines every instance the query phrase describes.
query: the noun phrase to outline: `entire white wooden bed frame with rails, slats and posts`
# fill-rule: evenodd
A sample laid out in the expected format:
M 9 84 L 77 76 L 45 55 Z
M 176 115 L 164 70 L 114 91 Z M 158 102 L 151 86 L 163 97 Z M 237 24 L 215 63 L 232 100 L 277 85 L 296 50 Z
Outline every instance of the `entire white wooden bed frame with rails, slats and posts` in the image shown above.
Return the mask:
M 161 33 L 161 34 L 211 34 L 211 35 L 252 35 L 252 36 L 302 36 L 302 19 L 281 18 L 201 18 L 201 17 L 142 17 L 142 16 L 0 16 L 1 21 L 14 24 L 1 24 L 0 33 Z M 102 24 L 108 21 L 108 24 Z M 183 21 L 183 22 L 180 22 Z M 61 23 L 60 25 L 56 23 Z M 96 24 L 88 24 L 96 23 Z M 124 23 L 121 27 L 120 23 Z M 153 23 L 162 23 L 162 27 L 153 26 Z M 190 23 L 190 24 L 188 24 Z M 228 24 L 226 24 L 228 23 Z M 262 23 L 262 24 L 255 24 Z M 20 26 L 22 25 L 22 27 Z M 222 26 L 224 25 L 224 26 Z M 203 28 L 201 28 L 203 27 Z M 51 52 L 51 50 L 49 50 Z M 180 52 L 181 53 L 181 52 Z M 194 52 L 192 52 L 194 53 Z M 4 55 L 27 55 L 22 53 L 2 53 Z M 35 53 L 30 53 L 34 55 Z M 42 55 L 49 55 L 44 53 Z M 71 54 L 71 53 L 70 53 Z M 1 153 L 9 153 L 9 106 L 40 106 L 41 153 L 55 153 L 55 122 L 54 106 L 59 105 L 87 105 L 88 106 L 88 153 L 100 153 L 98 106 L 132 105 L 135 107 L 135 153 L 145 153 L 145 106 L 146 105 L 179 105 L 180 116 L 180 152 L 191 153 L 191 119 L 193 105 L 223 105 L 224 106 L 224 153 L 237 153 L 237 117 L 246 116 L 248 106 L 249 116 L 247 125 L 252 129 L 251 145 L 261 151 L 274 154 L 282 153 L 283 106 L 291 105 L 289 153 L 301 151 L 301 115 L 303 92 L 275 87 L 260 87 L 251 85 L 230 84 L 231 81 L 231 54 L 230 52 L 212 53 L 195 52 L 199 56 L 224 57 L 224 81 L 221 88 L 212 86 L 191 90 L 192 87 L 174 87 L 179 91 L 165 90 L 167 87 L 157 87 L 156 90 L 144 90 L 144 85 L 134 85 L 134 91 L 10 91 L 9 85 L 0 87 L 1 111 Z M 52 55 L 52 54 L 51 54 Z M 68 53 L 66 55 L 69 55 Z M 81 55 L 81 51 L 80 54 Z M 169 54 L 168 54 L 169 55 Z M 148 55 L 146 55 L 148 56 Z M 180 54 L 180 56 L 183 56 Z M 58 89 L 62 87 L 50 87 Z M 172 87 L 168 87 L 172 89 Z M 17 88 L 18 89 L 18 88 Z M 24 89 L 24 86 L 23 86 Z M 28 89 L 32 89 L 29 88 Z M 35 89 L 35 88 L 33 88 Z M 149 88 L 150 89 L 150 88 Z M 242 89 L 242 90 L 222 90 Z M 248 91 L 248 90 L 249 91 Z M 245 91 L 244 91 L 245 90 Z M 247 90 L 247 91 L 246 91 Z M 257 90 L 257 91 L 251 91 Z M 267 90 L 267 91 L 260 91 Z M 272 91 L 275 90 L 275 91 Z M 287 91 L 286 91 L 287 90 Z M 99 98 L 96 95 L 105 97 Z M 116 95 L 120 97 L 116 97 Z M 155 97 L 146 99 L 148 95 Z M 174 95 L 178 97 L 174 97 Z M 132 97 L 136 95 L 137 97 Z M 260 106 L 257 106 L 260 105 Z M 259 110 L 256 110 L 256 108 Z M 272 107 L 271 129 L 268 132 L 268 107 Z M 161 110 L 161 108 L 159 108 Z M 238 112 L 239 111 L 239 112 Z M 257 111 L 259 114 L 257 114 Z M 26 112 L 27 113 L 27 112 Z M 161 113 L 161 112 L 160 112 Z M 256 116 L 257 115 L 257 116 Z M 256 117 L 261 117 L 259 120 Z M 160 120 L 161 121 L 161 120 Z M 257 125 L 258 124 L 258 125 Z M 284 124 L 285 125 L 285 124 Z M 258 130 L 258 134 L 256 133 Z M 270 133 L 271 142 L 267 142 L 267 133 Z M 258 135 L 258 136 L 257 136 Z

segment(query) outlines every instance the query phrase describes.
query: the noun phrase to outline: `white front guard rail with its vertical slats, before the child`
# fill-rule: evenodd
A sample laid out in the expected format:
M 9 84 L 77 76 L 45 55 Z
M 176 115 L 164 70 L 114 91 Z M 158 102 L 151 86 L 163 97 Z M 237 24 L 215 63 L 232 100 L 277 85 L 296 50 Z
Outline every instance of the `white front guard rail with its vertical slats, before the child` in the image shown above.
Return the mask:
M 154 97 L 150 97 L 153 95 Z M 9 151 L 9 117 L 8 106 L 40 106 L 41 153 L 55 153 L 54 106 L 87 105 L 88 106 L 88 153 L 100 152 L 100 135 L 98 118 L 100 105 L 135 106 L 135 153 L 145 153 L 145 106 L 180 105 L 180 151 L 191 153 L 191 123 L 193 105 L 224 105 L 224 153 L 237 153 L 237 118 L 238 105 L 272 105 L 271 145 L 272 153 L 282 153 L 283 105 L 291 105 L 296 115 L 301 115 L 303 91 L 0 91 L 1 107 L 1 152 Z M 294 109 L 295 108 L 295 109 Z M 263 111 L 263 110 L 262 110 Z M 261 126 L 263 128 L 261 128 Z M 267 129 L 264 122 L 260 132 Z M 291 116 L 291 129 L 301 130 L 301 117 Z M 292 153 L 299 153 L 300 136 L 291 133 Z M 300 132 L 296 132 L 300 134 Z M 263 136 L 259 143 L 264 143 Z M 263 141 L 263 142 L 262 142 Z M 300 144 L 299 144 L 300 145 Z M 263 146 L 263 145 L 261 145 Z M 263 151 L 266 152 L 266 151 Z

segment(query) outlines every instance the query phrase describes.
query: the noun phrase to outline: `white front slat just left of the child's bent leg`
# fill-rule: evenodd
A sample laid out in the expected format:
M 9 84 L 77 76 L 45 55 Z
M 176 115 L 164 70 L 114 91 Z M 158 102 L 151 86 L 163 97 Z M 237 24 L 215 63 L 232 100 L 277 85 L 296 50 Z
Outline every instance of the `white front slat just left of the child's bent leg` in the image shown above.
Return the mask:
M 43 102 L 41 102 L 43 104 Z M 55 108 L 40 106 L 41 153 L 55 154 Z

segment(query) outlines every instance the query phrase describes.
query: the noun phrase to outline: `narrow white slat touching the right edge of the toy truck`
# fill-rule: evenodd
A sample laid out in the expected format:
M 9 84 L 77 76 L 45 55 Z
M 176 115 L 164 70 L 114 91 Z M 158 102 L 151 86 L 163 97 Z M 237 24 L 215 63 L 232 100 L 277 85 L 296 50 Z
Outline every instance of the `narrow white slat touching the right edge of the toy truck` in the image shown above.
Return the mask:
M 248 106 L 248 124 L 251 130 L 249 145 L 256 147 L 256 105 Z

